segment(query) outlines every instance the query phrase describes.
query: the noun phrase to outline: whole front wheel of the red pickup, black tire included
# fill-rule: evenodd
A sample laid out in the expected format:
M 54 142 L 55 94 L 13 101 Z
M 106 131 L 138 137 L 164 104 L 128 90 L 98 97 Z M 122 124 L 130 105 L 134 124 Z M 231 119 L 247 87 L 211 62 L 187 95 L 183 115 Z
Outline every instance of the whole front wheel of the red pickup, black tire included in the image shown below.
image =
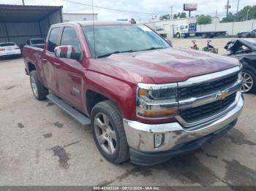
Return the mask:
M 105 117 L 108 117 L 108 120 Z M 101 123 L 99 123 L 99 120 Z M 91 124 L 95 144 L 106 160 L 118 164 L 129 159 L 129 146 L 124 132 L 123 119 L 113 101 L 102 101 L 94 106 L 91 112 Z M 105 125 L 105 130 L 103 130 L 104 127 L 99 128 L 102 124 L 108 124 Z M 108 137 L 106 137 L 107 135 Z M 109 149 L 110 145 L 113 146 L 113 150 Z

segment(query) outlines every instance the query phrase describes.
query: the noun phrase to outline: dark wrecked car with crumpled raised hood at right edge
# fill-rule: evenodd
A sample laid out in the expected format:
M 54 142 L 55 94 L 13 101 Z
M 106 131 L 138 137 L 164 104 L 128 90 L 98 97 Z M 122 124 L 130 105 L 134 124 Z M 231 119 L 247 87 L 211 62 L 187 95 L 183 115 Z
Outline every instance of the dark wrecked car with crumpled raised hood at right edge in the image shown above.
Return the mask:
M 225 49 L 243 64 L 241 91 L 256 93 L 256 41 L 236 39 L 227 42 Z

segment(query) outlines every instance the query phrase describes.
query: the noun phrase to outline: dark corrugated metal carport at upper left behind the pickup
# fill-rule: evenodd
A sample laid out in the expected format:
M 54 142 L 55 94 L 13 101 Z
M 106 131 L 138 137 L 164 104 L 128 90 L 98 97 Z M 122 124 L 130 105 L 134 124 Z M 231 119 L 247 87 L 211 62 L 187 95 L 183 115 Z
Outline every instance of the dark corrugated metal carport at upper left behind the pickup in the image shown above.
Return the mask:
M 0 42 L 22 47 L 28 39 L 45 39 L 50 25 L 62 20 L 62 6 L 0 4 Z

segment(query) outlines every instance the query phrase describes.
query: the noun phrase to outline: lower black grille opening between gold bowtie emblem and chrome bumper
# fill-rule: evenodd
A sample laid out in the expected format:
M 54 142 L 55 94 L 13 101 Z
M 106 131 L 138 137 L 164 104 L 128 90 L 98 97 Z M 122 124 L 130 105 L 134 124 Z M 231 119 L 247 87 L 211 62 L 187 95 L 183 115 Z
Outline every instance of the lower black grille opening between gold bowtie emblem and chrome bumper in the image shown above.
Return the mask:
M 227 109 L 227 107 L 230 106 L 230 104 L 232 104 L 235 100 L 236 93 L 233 93 L 223 100 L 214 101 L 203 106 L 181 110 L 180 114 L 187 123 L 203 120 Z

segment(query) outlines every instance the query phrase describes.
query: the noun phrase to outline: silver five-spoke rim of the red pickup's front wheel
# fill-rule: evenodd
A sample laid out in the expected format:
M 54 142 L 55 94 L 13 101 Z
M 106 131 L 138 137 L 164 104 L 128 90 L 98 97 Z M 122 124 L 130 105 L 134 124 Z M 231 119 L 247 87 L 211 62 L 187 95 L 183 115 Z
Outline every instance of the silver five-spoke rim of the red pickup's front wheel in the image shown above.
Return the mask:
M 96 114 L 94 117 L 94 131 L 99 146 L 108 155 L 113 155 L 116 152 L 116 132 L 106 114 Z

